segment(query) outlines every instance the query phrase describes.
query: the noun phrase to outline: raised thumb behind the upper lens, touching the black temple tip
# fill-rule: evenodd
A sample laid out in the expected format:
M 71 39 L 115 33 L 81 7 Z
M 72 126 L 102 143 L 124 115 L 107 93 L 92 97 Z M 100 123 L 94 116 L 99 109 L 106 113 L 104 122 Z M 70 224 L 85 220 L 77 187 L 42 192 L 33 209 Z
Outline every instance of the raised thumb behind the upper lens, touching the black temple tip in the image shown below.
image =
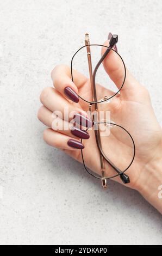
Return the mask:
M 104 45 L 109 46 L 109 40 L 105 41 Z M 102 54 L 106 50 L 107 48 L 102 47 Z M 111 80 L 113 80 L 117 88 L 120 89 L 124 80 L 124 66 L 119 55 L 114 51 L 110 51 L 103 61 L 103 66 Z M 140 87 L 138 81 L 135 80 L 126 68 L 126 80 L 120 91 L 121 96 L 125 99 L 135 99 L 139 94 Z

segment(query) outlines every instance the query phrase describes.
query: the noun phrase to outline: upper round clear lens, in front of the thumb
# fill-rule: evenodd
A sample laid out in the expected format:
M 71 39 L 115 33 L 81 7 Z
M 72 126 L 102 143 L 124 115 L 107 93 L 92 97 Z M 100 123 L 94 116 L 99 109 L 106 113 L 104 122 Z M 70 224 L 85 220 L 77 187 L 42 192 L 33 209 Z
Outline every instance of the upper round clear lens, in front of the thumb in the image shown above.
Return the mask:
M 73 69 L 79 71 L 84 74 L 88 78 L 88 82 L 86 84 L 88 90 L 85 94 L 85 90 L 79 91 L 79 97 L 87 102 L 94 101 L 105 101 L 108 102 L 109 99 L 112 99 L 114 95 L 119 93 L 120 89 L 124 84 L 124 80 L 126 77 L 126 68 L 124 66 L 124 62 L 115 50 L 101 45 L 90 45 L 90 56 L 92 63 L 92 72 L 94 71 L 97 63 L 101 59 L 101 52 L 110 50 L 107 57 L 103 60 L 102 64 L 99 65 L 96 75 L 95 75 L 95 90 L 96 90 L 96 100 L 94 100 L 94 96 L 91 91 L 91 83 L 90 83 L 90 70 L 88 65 L 88 53 L 86 46 L 81 47 L 73 56 L 71 61 L 71 73 L 72 80 L 75 83 L 76 78 L 73 74 Z M 120 66 L 122 77 L 120 78 L 120 82 L 115 83 L 110 79 L 108 74 L 113 74 L 113 71 L 116 68 L 116 63 L 118 63 L 118 67 Z

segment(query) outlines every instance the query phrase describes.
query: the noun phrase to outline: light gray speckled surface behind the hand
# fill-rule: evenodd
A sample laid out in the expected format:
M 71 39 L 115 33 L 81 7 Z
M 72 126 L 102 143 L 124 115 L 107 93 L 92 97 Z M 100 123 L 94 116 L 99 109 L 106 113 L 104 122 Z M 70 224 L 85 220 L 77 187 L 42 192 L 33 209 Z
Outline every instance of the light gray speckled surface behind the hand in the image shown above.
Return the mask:
M 113 181 L 102 190 L 43 142 L 36 118 L 52 68 L 70 64 L 85 32 L 99 44 L 112 32 L 162 123 L 161 13 L 159 0 L 0 1 L 1 244 L 161 244 L 161 215 Z

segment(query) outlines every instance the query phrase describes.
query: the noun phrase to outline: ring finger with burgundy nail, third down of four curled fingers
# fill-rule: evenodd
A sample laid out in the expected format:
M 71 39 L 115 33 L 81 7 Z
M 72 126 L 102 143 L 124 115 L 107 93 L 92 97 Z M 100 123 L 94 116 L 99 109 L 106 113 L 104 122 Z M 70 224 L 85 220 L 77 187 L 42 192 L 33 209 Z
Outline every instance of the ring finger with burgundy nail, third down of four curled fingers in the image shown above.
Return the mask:
M 73 123 L 68 123 L 68 121 L 57 117 L 45 106 L 40 107 L 38 111 L 38 118 L 49 128 L 72 138 L 89 139 L 90 137 L 88 132 L 81 130 L 79 126 L 74 126 Z

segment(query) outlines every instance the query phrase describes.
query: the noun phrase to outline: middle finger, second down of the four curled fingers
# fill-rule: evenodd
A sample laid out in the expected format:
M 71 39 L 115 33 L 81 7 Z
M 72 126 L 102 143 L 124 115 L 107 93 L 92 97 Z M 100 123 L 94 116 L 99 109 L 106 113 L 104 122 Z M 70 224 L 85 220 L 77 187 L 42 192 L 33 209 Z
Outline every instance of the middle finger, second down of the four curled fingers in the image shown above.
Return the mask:
M 71 104 L 52 87 L 47 87 L 42 91 L 40 101 L 51 112 L 55 112 L 61 119 L 67 121 L 70 118 L 72 119 L 76 113 L 86 116 L 86 113 L 82 109 L 77 107 L 77 105 Z

